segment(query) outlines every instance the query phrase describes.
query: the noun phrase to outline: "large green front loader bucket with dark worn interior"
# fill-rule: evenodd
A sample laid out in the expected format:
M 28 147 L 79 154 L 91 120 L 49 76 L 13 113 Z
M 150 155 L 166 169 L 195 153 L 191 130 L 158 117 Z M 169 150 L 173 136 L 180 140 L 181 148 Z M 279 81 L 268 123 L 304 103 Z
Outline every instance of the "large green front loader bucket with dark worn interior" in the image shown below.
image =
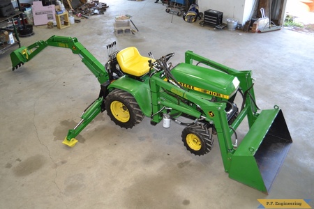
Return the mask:
M 232 155 L 229 177 L 268 194 L 291 144 L 281 109 L 263 110 Z

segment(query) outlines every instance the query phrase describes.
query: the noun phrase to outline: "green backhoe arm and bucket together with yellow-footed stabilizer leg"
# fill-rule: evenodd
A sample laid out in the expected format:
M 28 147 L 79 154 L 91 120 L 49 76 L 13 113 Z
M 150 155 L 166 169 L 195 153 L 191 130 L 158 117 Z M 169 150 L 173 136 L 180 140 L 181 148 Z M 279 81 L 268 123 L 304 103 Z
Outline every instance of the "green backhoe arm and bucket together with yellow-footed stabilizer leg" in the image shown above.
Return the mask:
M 82 62 L 89 68 L 89 70 L 95 75 L 100 83 L 101 91 L 99 98 L 95 100 L 87 109 L 84 110 L 81 118 L 73 130 L 68 131 L 68 135 L 63 140 L 63 144 L 73 147 L 77 143 L 78 134 L 86 127 L 91 121 L 101 112 L 105 111 L 103 105 L 104 96 L 107 92 L 107 86 L 110 84 L 110 77 L 105 70 L 105 66 L 101 64 L 80 42 L 77 38 L 52 36 L 47 40 L 40 40 L 38 42 L 29 45 L 29 47 L 20 47 L 10 54 L 12 62 L 12 70 L 20 68 L 24 63 L 33 59 L 38 53 L 43 51 L 45 47 L 61 47 L 71 49 L 73 54 L 78 54 L 82 58 Z M 109 83 L 108 83 L 109 82 Z

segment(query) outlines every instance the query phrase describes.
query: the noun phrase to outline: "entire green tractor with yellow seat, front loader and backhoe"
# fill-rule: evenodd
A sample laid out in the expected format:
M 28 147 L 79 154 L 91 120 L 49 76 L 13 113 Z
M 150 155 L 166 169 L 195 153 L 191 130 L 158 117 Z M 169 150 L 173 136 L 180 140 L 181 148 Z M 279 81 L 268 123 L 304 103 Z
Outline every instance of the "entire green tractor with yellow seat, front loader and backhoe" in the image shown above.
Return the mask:
M 175 121 L 184 125 L 181 137 L 190 153 L 209 153 L 216 134 L 230 178 L 268 194 L 292 138 L 278 106 L 257 112 L 250 70 L 234 70 L 191 51 L 185 53 L 184 63 L 172 66 L 169 59 L 174 53 L 154 59 L 151 53 L 142 56 L 135 47 L 119 51 L 115 42 L 107 45 L 109 61 L 102 65 L 76 38 L 60 36 L 12 52 L 13 70 L 47 46 L 79 54 L 100 83 L 99 97 L 84 110 L 63 144 L 74 146 L 75 137 L 103 111 L 126 129 L 144 116 L 151 118 L 151 125 L 163 122 L 169 127 Z M 236 130 L 244 118 L 249 130 L 238 144 Z

